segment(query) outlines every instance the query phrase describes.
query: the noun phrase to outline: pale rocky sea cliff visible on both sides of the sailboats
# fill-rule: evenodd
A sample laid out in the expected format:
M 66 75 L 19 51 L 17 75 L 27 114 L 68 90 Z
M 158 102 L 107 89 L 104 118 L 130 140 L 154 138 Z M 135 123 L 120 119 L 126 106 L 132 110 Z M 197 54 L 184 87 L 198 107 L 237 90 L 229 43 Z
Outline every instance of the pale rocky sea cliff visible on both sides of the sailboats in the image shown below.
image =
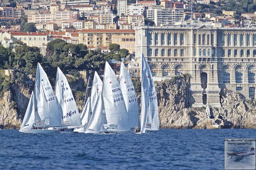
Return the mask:
M 74 96 L 83 91 L 86 74 L 74 79 L 67 75 Z M 34 79 L 24 83 L 12 81 L 10 88 L 0 96 L 0 127 L 20 128 Z M 159 124 L 162 128 L 205 129 L 209 125 L 221 124 L 224 128 L 255 128 L 256 107 L 252 100 L 244 100 L 241 94 L 224 89 L 221 92 L 222 108 L 189 107 L 189 75 L 175 76 L 156 83 Z M 140 99 L 139 99 L 140 100 Z M 77 100 L 82 109 L 83 97 Z M 81 106 L 80 106 L 81 105 Z

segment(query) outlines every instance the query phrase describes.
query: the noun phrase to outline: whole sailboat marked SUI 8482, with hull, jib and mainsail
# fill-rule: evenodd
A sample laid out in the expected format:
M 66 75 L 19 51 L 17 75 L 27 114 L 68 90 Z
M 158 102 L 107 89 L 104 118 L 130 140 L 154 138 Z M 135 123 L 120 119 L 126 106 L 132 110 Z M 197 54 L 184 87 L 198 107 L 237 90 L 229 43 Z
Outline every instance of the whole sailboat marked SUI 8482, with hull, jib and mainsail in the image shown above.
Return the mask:
M 37 63 L 35 86 L 35 95 L 32 92 L 19 131 L 23 133 L 59 132 L 60 130 L 48 129 L 61 126 L 60 108 L 52 85 L 40 63 Z M 43 129 L 33 129 L 34 127 Z

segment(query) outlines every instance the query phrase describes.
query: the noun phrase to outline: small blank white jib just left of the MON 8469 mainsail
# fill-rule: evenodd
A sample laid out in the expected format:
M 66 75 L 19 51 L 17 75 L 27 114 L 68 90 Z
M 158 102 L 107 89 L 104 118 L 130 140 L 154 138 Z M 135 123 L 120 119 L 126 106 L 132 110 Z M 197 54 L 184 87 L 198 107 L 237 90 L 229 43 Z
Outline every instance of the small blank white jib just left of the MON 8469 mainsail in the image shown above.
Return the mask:
M 102 120 L 101 120 L 102 115 L 105 115 L 105 113 L 104 113 L 102 95 L 100 93 L 96 101 L 94 111 L 92 112 L 92 116 L 85 130 L 85 133 L 100 133 L 100 130 L 103 127 Z

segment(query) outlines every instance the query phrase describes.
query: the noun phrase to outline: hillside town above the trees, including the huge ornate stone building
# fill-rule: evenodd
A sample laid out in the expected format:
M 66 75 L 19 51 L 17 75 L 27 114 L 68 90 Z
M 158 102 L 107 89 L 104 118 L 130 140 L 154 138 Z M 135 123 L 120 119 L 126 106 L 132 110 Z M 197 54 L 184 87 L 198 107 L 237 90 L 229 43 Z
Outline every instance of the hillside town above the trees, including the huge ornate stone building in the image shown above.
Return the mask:
M 12 51 L 20 42 L 37 47 L 42 56 L 59 39 L 104 54 L 117 44 L 128 51 L 120 60 L 131 75 L 139 75 L 144 55 L 155 81 L 190 74 L 190 107 L 220 107 L 224 88 L 255 98 L 255 7 L 246 0 L 3 0 L 0 41 Z

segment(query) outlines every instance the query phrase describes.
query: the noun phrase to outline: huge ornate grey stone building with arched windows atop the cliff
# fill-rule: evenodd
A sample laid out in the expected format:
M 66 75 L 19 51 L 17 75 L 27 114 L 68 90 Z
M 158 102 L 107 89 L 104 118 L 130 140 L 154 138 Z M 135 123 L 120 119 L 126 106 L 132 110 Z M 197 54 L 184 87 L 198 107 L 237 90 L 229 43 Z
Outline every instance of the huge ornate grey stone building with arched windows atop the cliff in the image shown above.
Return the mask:
M 185 23 L 140 26 L 135 36 L 135 59 L 147 58 L 155 80 L 191 75 L 191 107 L 220 107 L 224 88 L 255 98 L 255 29 Z

